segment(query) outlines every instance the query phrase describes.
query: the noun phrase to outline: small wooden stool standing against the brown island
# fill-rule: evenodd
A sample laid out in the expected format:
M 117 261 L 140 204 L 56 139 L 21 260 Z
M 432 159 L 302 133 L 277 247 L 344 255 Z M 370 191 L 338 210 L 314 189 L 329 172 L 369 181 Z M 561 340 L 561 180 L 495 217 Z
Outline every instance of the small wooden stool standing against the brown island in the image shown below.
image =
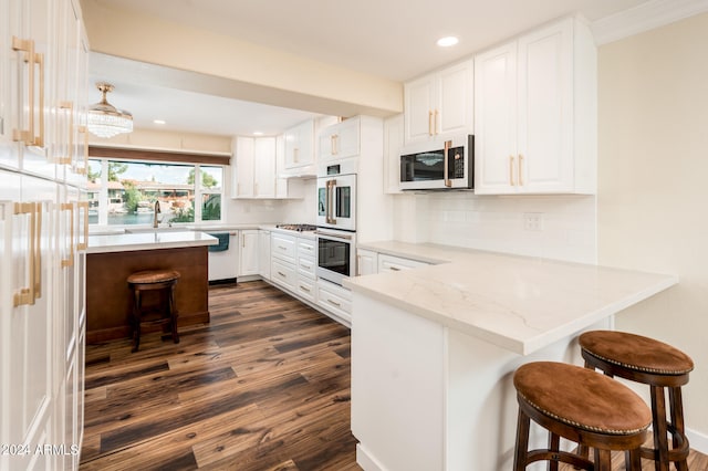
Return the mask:
M 173 341 L 179 343 L 177 332 L 177 308 L 175 306 L 175 286 L 179 272 L 174 270 L 146 270 L 128 276 L 128 285 L 133 290 L 133 352 L 140 345 L 143 326 L 169 325 Z M 157 305 L 144 306 L 143 292 L 162 291 Z

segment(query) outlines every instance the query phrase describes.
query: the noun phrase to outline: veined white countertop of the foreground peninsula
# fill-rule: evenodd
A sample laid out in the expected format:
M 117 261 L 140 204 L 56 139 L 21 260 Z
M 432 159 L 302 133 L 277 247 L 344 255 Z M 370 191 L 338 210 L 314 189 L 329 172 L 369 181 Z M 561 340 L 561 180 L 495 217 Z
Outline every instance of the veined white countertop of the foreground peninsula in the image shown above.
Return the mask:
M 357 248 L 434 264 L 345 280 L 353 292 L 521 355 L 678 283 L 670 274 L 427 243 Z

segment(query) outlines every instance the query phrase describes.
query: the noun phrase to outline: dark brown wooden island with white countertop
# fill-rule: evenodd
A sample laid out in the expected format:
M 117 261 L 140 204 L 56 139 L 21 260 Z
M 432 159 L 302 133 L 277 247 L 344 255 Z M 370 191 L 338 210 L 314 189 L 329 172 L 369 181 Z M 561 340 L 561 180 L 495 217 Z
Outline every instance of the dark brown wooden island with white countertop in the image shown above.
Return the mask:
M 86 250 L 86 343 L 129 336 L 133 297 L 126 279 L 140 270 L 171 269 L 179 325 L 209 322 L 208 245 L 197 231 L 147 231 L 90 236 Z

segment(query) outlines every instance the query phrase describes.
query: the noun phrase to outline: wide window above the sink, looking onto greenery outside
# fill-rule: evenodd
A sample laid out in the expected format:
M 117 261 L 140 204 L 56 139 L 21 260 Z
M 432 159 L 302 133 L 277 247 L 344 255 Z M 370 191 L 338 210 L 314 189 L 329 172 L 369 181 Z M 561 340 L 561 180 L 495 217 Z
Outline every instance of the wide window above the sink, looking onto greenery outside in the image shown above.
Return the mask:
M 223 167 L 88 160 L 88 222 L 101 226 L 220 221 Z M 199 205 L 195 205 L 196 202 Z

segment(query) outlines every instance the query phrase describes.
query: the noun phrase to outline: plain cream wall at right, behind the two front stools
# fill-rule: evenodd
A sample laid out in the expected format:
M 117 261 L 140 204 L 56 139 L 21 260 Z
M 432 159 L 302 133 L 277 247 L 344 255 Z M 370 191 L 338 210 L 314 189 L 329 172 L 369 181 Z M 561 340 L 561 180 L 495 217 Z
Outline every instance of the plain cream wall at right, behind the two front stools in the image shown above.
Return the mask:
M 708 452 L 708 14 L 598 50 L 601 264 L 679 284 L 616 326 L 694 358 L 684 388 L 691 447 Z

